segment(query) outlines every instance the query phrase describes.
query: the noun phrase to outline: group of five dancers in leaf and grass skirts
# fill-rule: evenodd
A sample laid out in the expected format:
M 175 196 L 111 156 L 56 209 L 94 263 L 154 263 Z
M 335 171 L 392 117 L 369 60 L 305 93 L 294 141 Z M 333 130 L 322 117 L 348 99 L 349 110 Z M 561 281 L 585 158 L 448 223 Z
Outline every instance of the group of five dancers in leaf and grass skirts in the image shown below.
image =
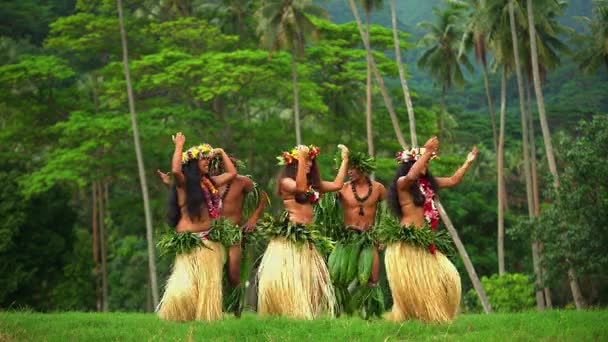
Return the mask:
M 240 277 L 241 236 L 256 229 L 267 195 L 262 193 L 257 208 L 243 223 L 243 202 L 254 190 L 253 181 L 237 174 L 233 159 L 223 149 L 203 144 L 184 151 L 185 140 L 181 133 L 174 136 L 172 181 L 159 172 L 166 184 L 172 183 L 168 223 L 175 231 L 166 244 L 174 247 L 176 259 L 158 314 L 173 321 L 211 321 L 222 317 L 224 263 L 230 286 L 245 286 Z M 345 295 L 353 293 L 353 285 L 359 285 L 360 290 L 354 292 L 363 293 L 364 301 L 373 302 L 374 291 L 381 292 L 378 249 L 385 248 L 393 298 L 385 317 L 453 320 L 460 306 L 460 276 L 445 256 L 441 239 L 445 235 L 436 231 L 439 214 L 434 198 L 439 189 L 462 180 L 477 149 L 446 178 L 433 177 L 428 170 L 430 160 L 437 157 L 436 137 L 421 148 L 399 152 L 399 166 L 387 191 L 370 178 L 373 158 L 338 147 L 341 160 L 333 181 L 321 178 L 318 147 L 300 145 L 278 157 L 283 170 L 277 194 L 284 213 L 257 228 L 272 231 L 257 271 L 258 314 L 314 319 L 349 312 L 343 302 Z M 331 228 L 344 239 L 333 241 L 332 247 L 337 242 L 333 251 L 327 251 L 316 243 L 327 237 L 320 235 L 314 206 L 332 192 L 337 194 L 343 222 Z M 377 220 L 379 204 L 385 199 L 396 216 L 392 225 L 390 220 Z M 391 227 L 385 229 L 382 224 Z M 380 230 L 384 240 L 368 238 Z M 383 310 L 383 304 L 376 308 Z

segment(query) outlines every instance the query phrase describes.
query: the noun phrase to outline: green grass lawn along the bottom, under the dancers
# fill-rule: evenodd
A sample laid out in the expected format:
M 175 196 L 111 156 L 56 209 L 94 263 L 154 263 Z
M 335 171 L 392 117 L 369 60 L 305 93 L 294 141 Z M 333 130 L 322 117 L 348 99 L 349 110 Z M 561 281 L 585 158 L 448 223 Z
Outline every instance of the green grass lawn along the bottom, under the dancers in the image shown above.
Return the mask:
M 608 311 L 460 315 L 452 324 L 294 321 L 245 314 L 219 322 L 173 323 L 139 313 L 0 312 L 0 341 L 608 341 Z

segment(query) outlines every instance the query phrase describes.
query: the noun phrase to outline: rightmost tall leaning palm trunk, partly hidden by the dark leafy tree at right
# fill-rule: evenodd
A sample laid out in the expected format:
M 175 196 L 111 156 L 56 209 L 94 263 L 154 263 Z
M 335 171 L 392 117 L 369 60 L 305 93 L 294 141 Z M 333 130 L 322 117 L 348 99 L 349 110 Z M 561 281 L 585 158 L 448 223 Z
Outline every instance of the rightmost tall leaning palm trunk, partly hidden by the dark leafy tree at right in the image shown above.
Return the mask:
M 512 6 L 512 5 L 511 5 Z M 553 144 L 551 143 L 551 133 L 549 132 L 549 125 L 547 123 L 547 116 L 545 114 L 545 102 L 543 99 L 543 91 L 540 86 L 540 72 L 538 70 L 538 50 L 536 47 L 536 28 L 534 27 L 534 6 L 532 0 L 527 0 L 528 7 L 528 27 L 530 32 L 530 53 L 532 55 L 532 76 L 534 79 L 534 92 L 536 94 L 536 104 L 538 105 L 538 115 L 540 117 L 540 126 L 543 131 L 543 140 L 545 142 L 545 150 L 547 154 L 547 162 L 549 164 L 549 170 L 553 175 L 553 187 L 555 191 L 559 189 L 559 176 L 557 174 L 557 166 L 555 164 L 555 156 L 553 154 Z M 576 279 L 576 272 L 572 265 L 568 269 L 568 280 L 570 282 L 570 290 L 572 291 L 572 297 L 576 308 L 581 310 L 587 305 L 585 299 L 581 293 L 578 280 Z

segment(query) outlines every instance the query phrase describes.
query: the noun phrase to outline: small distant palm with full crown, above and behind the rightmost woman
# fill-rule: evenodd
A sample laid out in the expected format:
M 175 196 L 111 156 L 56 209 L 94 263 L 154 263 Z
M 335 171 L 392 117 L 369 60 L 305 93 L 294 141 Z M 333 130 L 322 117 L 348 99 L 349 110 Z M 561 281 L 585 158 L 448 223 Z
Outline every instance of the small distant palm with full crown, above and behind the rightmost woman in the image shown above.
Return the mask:
M 441 114 L 439 116 L 440 134 L 444 132 L 445 94 L 453 84 L 463 84 L 464 75 L 461 65 L 472 70 L 473 66 L 465 55 L 458 55 L 459 37 L 462 36 L 458 25 L 460 11 L 456 8 L 440 10 L 433 8 L 436 23 L 422 22 L 418 26 L 427 33 L 419 44 L 427 50 L 418 60 L 418 66 L 430 72 L 431 77 L 441 86 Z

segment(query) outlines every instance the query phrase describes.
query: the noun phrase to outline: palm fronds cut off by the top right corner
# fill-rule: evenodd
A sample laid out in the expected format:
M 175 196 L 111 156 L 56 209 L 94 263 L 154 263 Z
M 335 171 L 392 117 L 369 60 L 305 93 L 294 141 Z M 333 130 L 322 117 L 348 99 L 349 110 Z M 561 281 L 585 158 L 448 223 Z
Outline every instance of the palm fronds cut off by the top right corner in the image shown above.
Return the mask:
M 608 0 L 593 0 L 591 18 L 580 18 L 589 28 L 589 36 L 579 36 L 583 49 L 577 54 L 580 68 L 585 73 L 592 73 L 602 64 L 608 72 Z

